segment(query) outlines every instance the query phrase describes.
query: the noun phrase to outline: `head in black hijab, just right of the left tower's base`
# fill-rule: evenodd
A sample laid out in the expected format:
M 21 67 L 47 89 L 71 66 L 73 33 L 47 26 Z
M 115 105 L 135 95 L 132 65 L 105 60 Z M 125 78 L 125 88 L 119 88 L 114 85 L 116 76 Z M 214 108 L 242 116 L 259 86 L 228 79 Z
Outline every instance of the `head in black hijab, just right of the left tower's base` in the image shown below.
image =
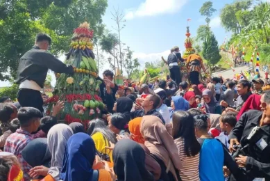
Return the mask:
M 112 111 L 115 113 L 125 113 L 130 112 L 133 107 L 133 100 L 128 97 L 119 97 L 117 102 L 115 102 Z

